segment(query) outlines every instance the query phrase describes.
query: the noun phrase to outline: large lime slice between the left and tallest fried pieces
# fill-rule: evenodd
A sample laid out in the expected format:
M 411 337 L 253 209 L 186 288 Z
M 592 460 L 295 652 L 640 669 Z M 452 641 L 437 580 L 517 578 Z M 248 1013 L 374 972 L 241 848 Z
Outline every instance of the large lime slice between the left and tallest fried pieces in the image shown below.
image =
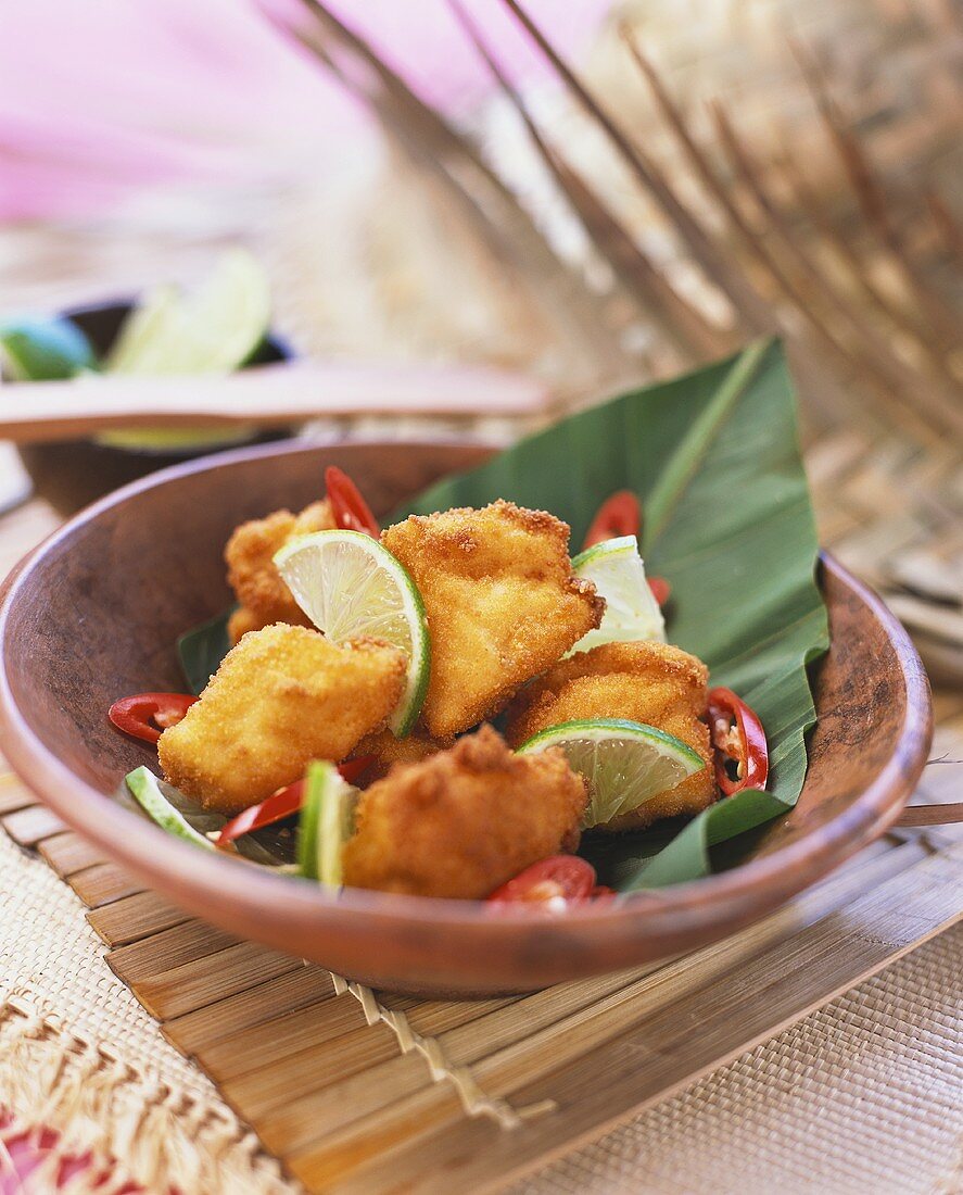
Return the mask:
M 315 531 L 276 553 L 294 600 L 333 643 L 370 636 L 407 656 L 405 691 L 388 725 L 411 731 L 431 672 L 431 641 L 422 595 L 391 552 L 357 531 Z

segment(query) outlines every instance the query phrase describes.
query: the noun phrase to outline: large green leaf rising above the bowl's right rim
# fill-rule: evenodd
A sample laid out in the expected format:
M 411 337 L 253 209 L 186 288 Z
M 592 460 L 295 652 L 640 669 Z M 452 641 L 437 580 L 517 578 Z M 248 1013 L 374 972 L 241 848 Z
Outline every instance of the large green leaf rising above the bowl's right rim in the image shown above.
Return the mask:
M 643 503 L 646 569 L 671 583 L 670 642 L 755 709 L 769 742 L 765 793 L 720 801 L 668 844 L 664 827 L 587 840 L 601 877 L 632 891 L 709 875 L 712 848 L 786 813 L 805 778 L 816 721 L 806 668 L 829 639 L 781 345 L 752 344 L 572 416 L 431 486 L 394 517 L 509 498 L 564 519 L 577 550 L 599 505 L 621 489 Z

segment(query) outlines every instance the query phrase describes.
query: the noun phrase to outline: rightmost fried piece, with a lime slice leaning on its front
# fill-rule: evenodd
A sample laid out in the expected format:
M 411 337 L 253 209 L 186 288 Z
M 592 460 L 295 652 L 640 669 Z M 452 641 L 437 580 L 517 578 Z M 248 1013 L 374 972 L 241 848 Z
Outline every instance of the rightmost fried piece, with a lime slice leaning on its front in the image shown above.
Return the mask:
M 706 766 L 667 792 L 599 829 L 643 829 L 661 817 L 698 814 L 716 799 L 706 712 L 709 669 L 667 643 L 603 643 L 551 668 L 508 711 L 505 737 L 519 747 L 563 722 L 627 718 L 657 727 L 687 743 Z

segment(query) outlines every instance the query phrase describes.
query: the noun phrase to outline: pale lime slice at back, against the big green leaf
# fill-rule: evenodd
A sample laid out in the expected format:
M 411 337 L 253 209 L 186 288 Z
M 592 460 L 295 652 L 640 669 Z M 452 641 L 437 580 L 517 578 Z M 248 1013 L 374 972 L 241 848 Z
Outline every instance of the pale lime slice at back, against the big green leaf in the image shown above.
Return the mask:
M 631 639 L 665 642 L 665 620 L 645 580 L 634 535 L 607 539 L 589 547 L 572 560 L 572 571 L 583 581 L 591 581 L 606 600 L 602 625 L 583 636 L 572 651 Z

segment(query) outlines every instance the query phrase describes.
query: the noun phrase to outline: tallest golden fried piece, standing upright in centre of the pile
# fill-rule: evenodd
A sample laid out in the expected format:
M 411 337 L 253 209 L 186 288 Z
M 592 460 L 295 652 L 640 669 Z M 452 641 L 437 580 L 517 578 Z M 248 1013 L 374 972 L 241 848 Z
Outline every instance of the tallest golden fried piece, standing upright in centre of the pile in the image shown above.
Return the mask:
M 412 515 L 381 543 L 424 601 L 431 680 L 422 719 L 433 739 L 497 713 L 605 611 L 595 587 L 572 575 L 569 527 L 544 510 L 498 501 Z

